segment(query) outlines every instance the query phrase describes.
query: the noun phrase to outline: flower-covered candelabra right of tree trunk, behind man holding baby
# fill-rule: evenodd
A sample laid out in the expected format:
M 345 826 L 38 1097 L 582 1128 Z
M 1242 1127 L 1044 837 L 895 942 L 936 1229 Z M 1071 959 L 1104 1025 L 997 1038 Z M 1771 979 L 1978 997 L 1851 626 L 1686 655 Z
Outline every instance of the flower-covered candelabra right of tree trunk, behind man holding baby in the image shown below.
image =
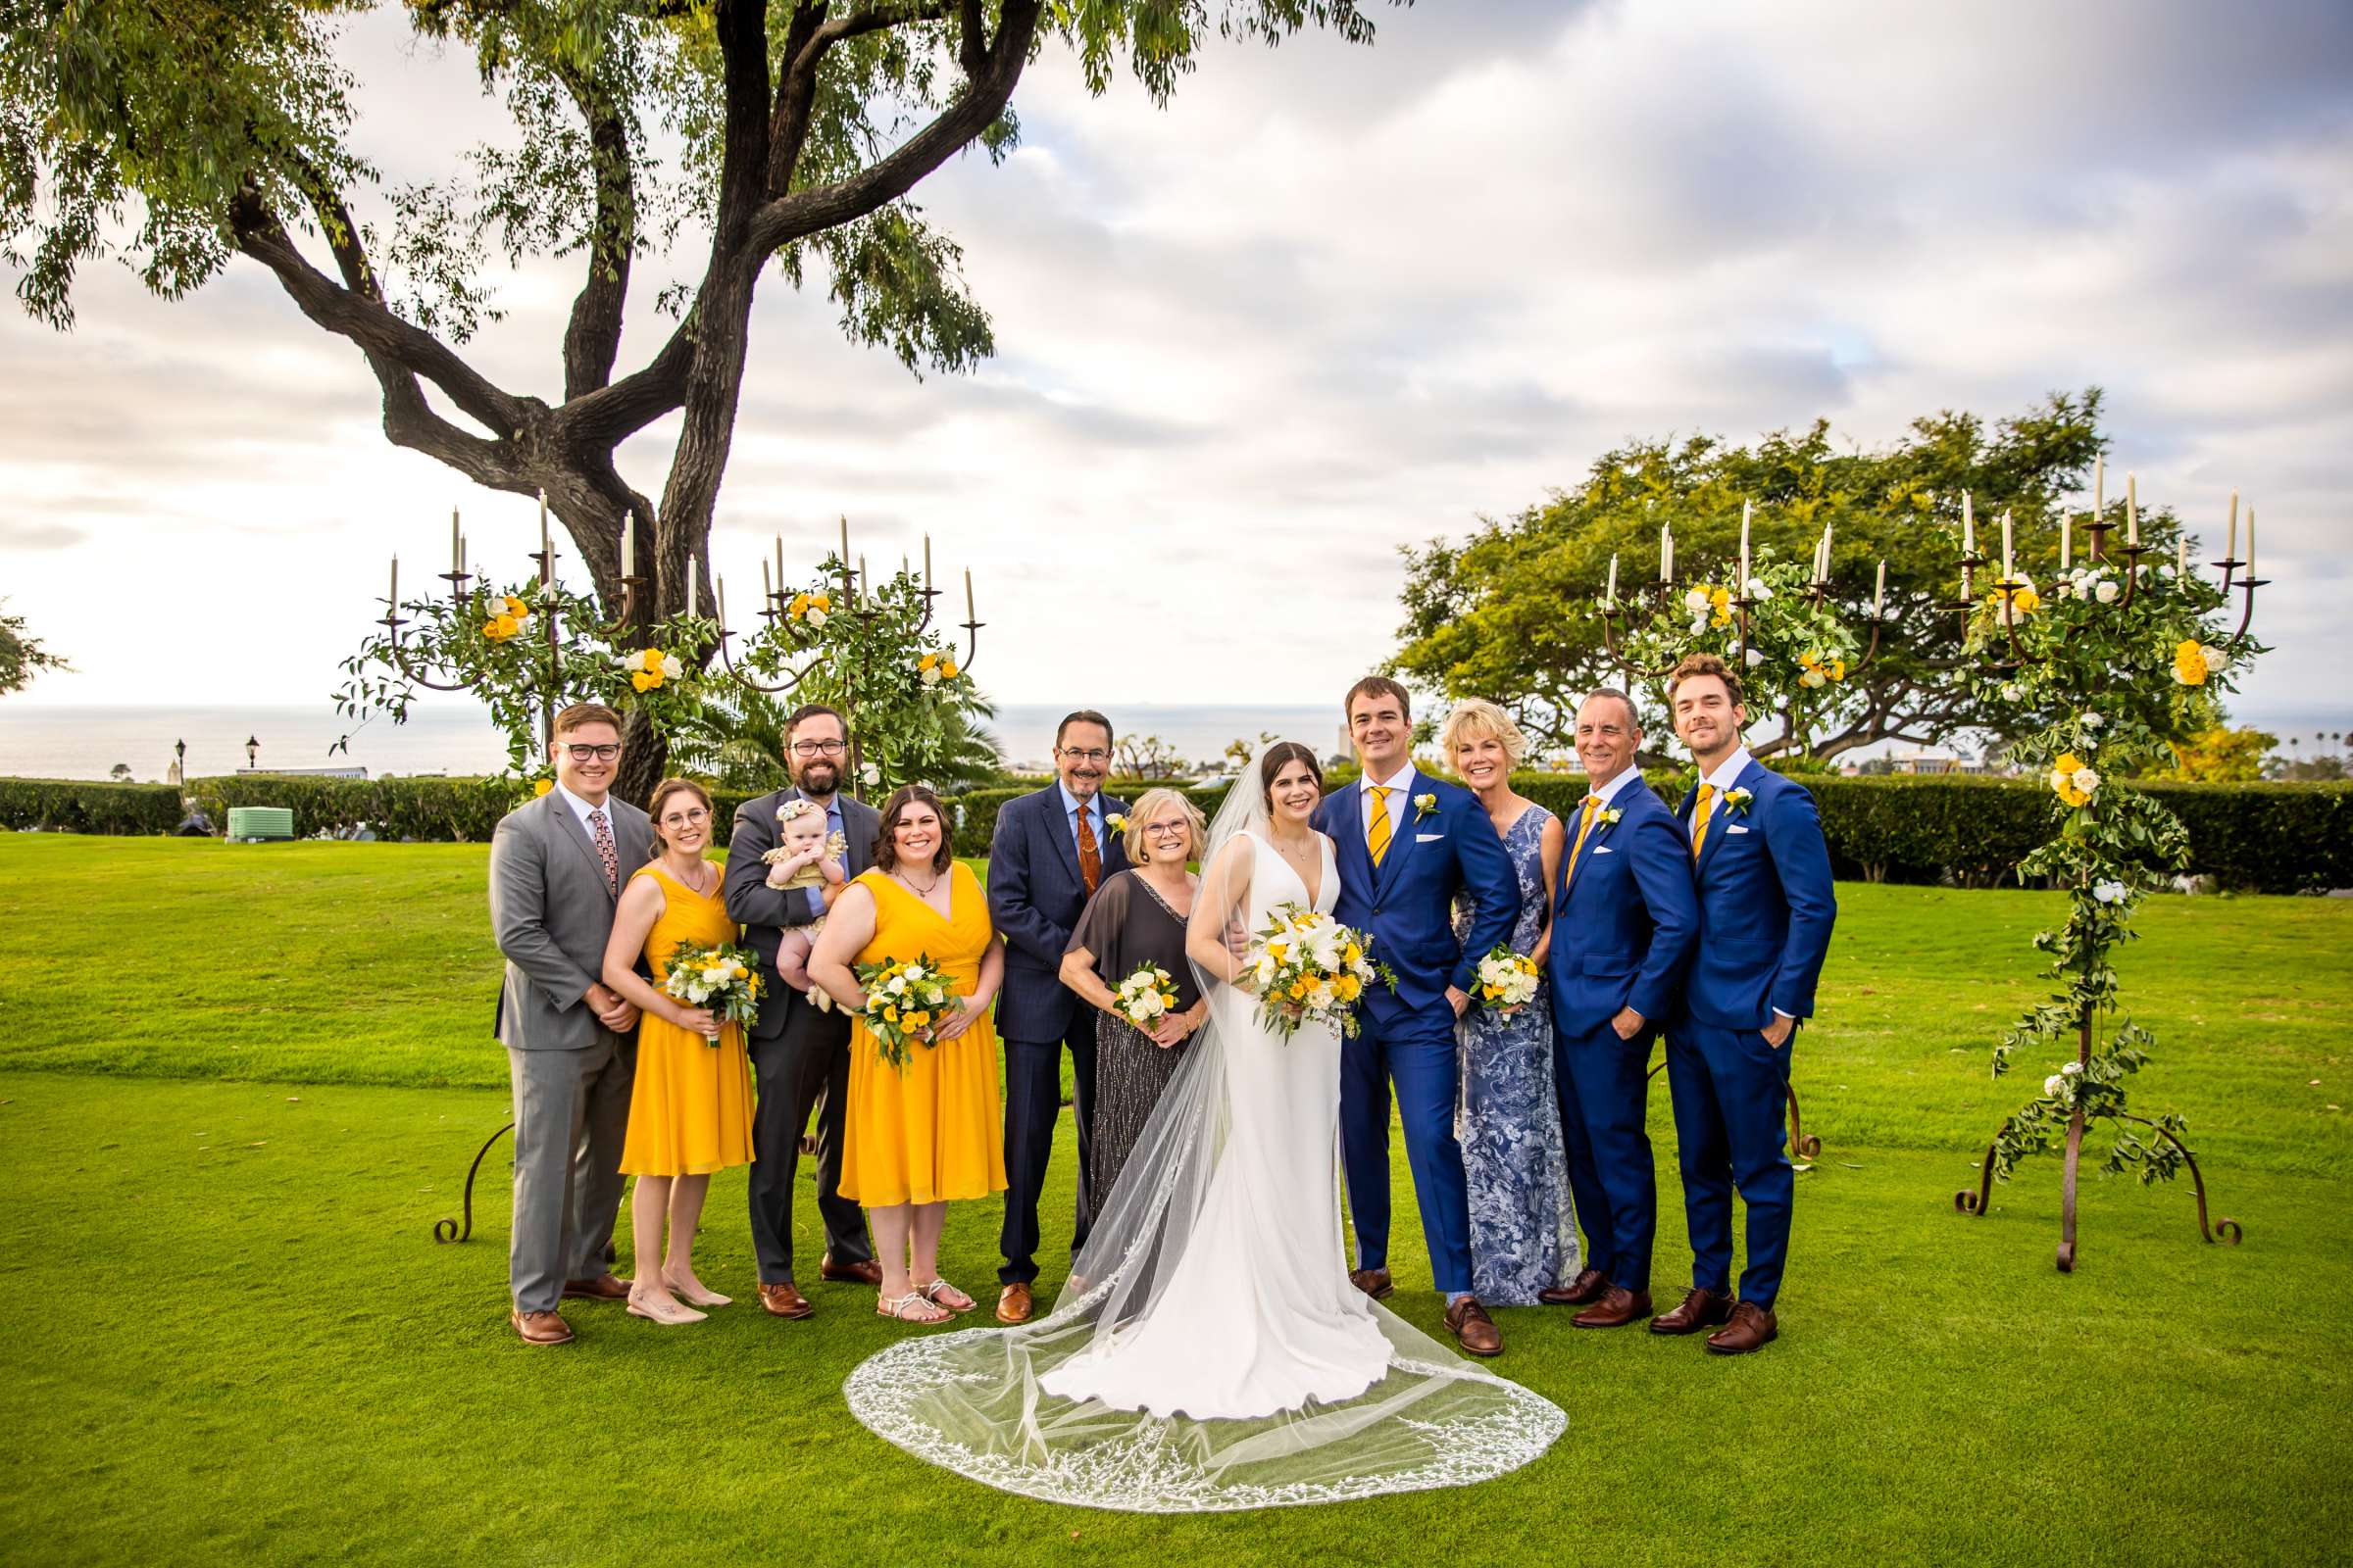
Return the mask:
M 932 583 L 932 538 L 922 541 L 922 576 L 901 562 L 875 583 L 866 557 L 849 567 L 849 522 L 840 552 L 819 564 L 816 581 L 793 588 L 776 567 L 760 562 L 760 621 L 736 654 L 727 628 L 727 583 L 718 585 L 718 654 L 727 675 L 765 693 L 798 691 L 805 701 L 842 710 L 849 731 L 849 776 L 866 790 L 911 783 L 915 757 L 934 755 L 951 715 L 969 705 L 972 661 L 984 621 L 965 571 L 965 651 L 932 628 L 941 590 Z

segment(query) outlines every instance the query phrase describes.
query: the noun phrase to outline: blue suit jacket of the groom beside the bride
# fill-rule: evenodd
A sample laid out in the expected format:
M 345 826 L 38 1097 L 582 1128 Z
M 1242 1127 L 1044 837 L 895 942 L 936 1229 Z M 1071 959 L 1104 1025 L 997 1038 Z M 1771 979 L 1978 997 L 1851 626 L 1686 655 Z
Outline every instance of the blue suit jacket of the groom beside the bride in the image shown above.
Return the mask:
M 1417 820 L 1419 809 L 1405 802 L 1379 867 L 1365 849 L 1360 785 L 1327 795 L 1313 818 L 1339 858 L 1332 917 L 1372 936 L 1372 957 L 1398 973 L 1395 994 L 1386 985 L 1365 992 L 1365 1011 L 1379 1023 L 1445 1006 L 1449 985 L 1468 992 L 1478 961 L 1508 943 L 1520 919 L 1520 879 L 1478 797 L 1426 773 L 1414 773 L 1412 795 L 1435 795 L 1438 804 Z M 1457 893 L 1473 903 L 1468 940 L 1454 938 Z

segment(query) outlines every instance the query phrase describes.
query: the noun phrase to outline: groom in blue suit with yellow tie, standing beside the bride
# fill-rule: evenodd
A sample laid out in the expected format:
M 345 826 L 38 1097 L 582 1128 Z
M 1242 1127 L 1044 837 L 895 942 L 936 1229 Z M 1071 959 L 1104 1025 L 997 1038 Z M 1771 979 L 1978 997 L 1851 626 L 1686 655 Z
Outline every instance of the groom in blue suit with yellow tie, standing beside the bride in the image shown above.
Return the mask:
M 1459 1067 L 1454 1020 L 1471 1004 L 1473 971 L 1520 919 L 1520 882 L 1478 799 L 1421 778 L 1412 762 L 1405 686 L 1367 675 L 1348 691 L 1348 736 L 1365 776 L 1315 806 L 1315 827 L 1339 858 L 1334 917 L 1372 936 L 1372 957 L 1398 990 L 1365 992 L 1362 1032 L 1341 1046 L 1339 1143 L 1355 1220 L 1351 1279 L 1374 1300 L 1388 1279 L 1388 1086 L 1405 1117 L 1431 1272 L 1447 1298 L 1447 1328 L 1473 1356 L 1504 1335 L 1471 1293 L 1471 1201 L 1454 1140 Z M 1471 898 L 1471 936 L 1454 938 L 1454 896 Z

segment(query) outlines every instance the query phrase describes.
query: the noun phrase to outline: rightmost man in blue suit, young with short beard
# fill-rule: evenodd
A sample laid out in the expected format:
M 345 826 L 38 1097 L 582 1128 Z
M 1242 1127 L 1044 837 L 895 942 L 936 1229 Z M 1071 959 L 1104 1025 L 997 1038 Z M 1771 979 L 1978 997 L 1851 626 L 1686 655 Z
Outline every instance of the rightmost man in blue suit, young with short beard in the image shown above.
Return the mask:
M 1762 1349 L 1788 1258 L 1795 1178 L 1781 1150 L 1781 1105 L 1798 1023 L 1831 952 L 1838 898 L 1821 816 L 1805 785 L 1758 766 L 1741 745 L 1741 677 L 1692 654 L 1666 679 L 1675 733 L 1699 764 L 1678 811 L 1699 884 L 1699 954 L 1666 1027 L 1666 1081 L 1682 1145 L 1682 1215 L 1692 1293 L 1652 1333 L 1708 1335 L 1725 1356 Z M 1732 1300 L 1732 1192 L 1748 1206 L 1748 1267 Z

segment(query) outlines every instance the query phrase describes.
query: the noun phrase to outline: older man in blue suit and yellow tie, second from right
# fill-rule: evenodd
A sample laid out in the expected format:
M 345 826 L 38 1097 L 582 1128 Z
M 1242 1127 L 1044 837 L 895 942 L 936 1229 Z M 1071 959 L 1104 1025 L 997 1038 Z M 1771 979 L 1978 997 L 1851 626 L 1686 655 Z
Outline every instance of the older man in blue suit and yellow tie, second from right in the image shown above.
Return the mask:
M 1675 1006 L 1699 940 L 1692 853 L 1675 816 L 1642 783 L 1642 724 L 1624 691 L 1577 710 L 1588 795 L 1553 889 L 1553 1081 L 1569 1192 L 1586 1227 L 1586 1269 L 1539 1298 L 1581 1305 L 1579 1328 L 1649 1316 L 1659 1180 L 1649 1159 L 1649 1041 Z

